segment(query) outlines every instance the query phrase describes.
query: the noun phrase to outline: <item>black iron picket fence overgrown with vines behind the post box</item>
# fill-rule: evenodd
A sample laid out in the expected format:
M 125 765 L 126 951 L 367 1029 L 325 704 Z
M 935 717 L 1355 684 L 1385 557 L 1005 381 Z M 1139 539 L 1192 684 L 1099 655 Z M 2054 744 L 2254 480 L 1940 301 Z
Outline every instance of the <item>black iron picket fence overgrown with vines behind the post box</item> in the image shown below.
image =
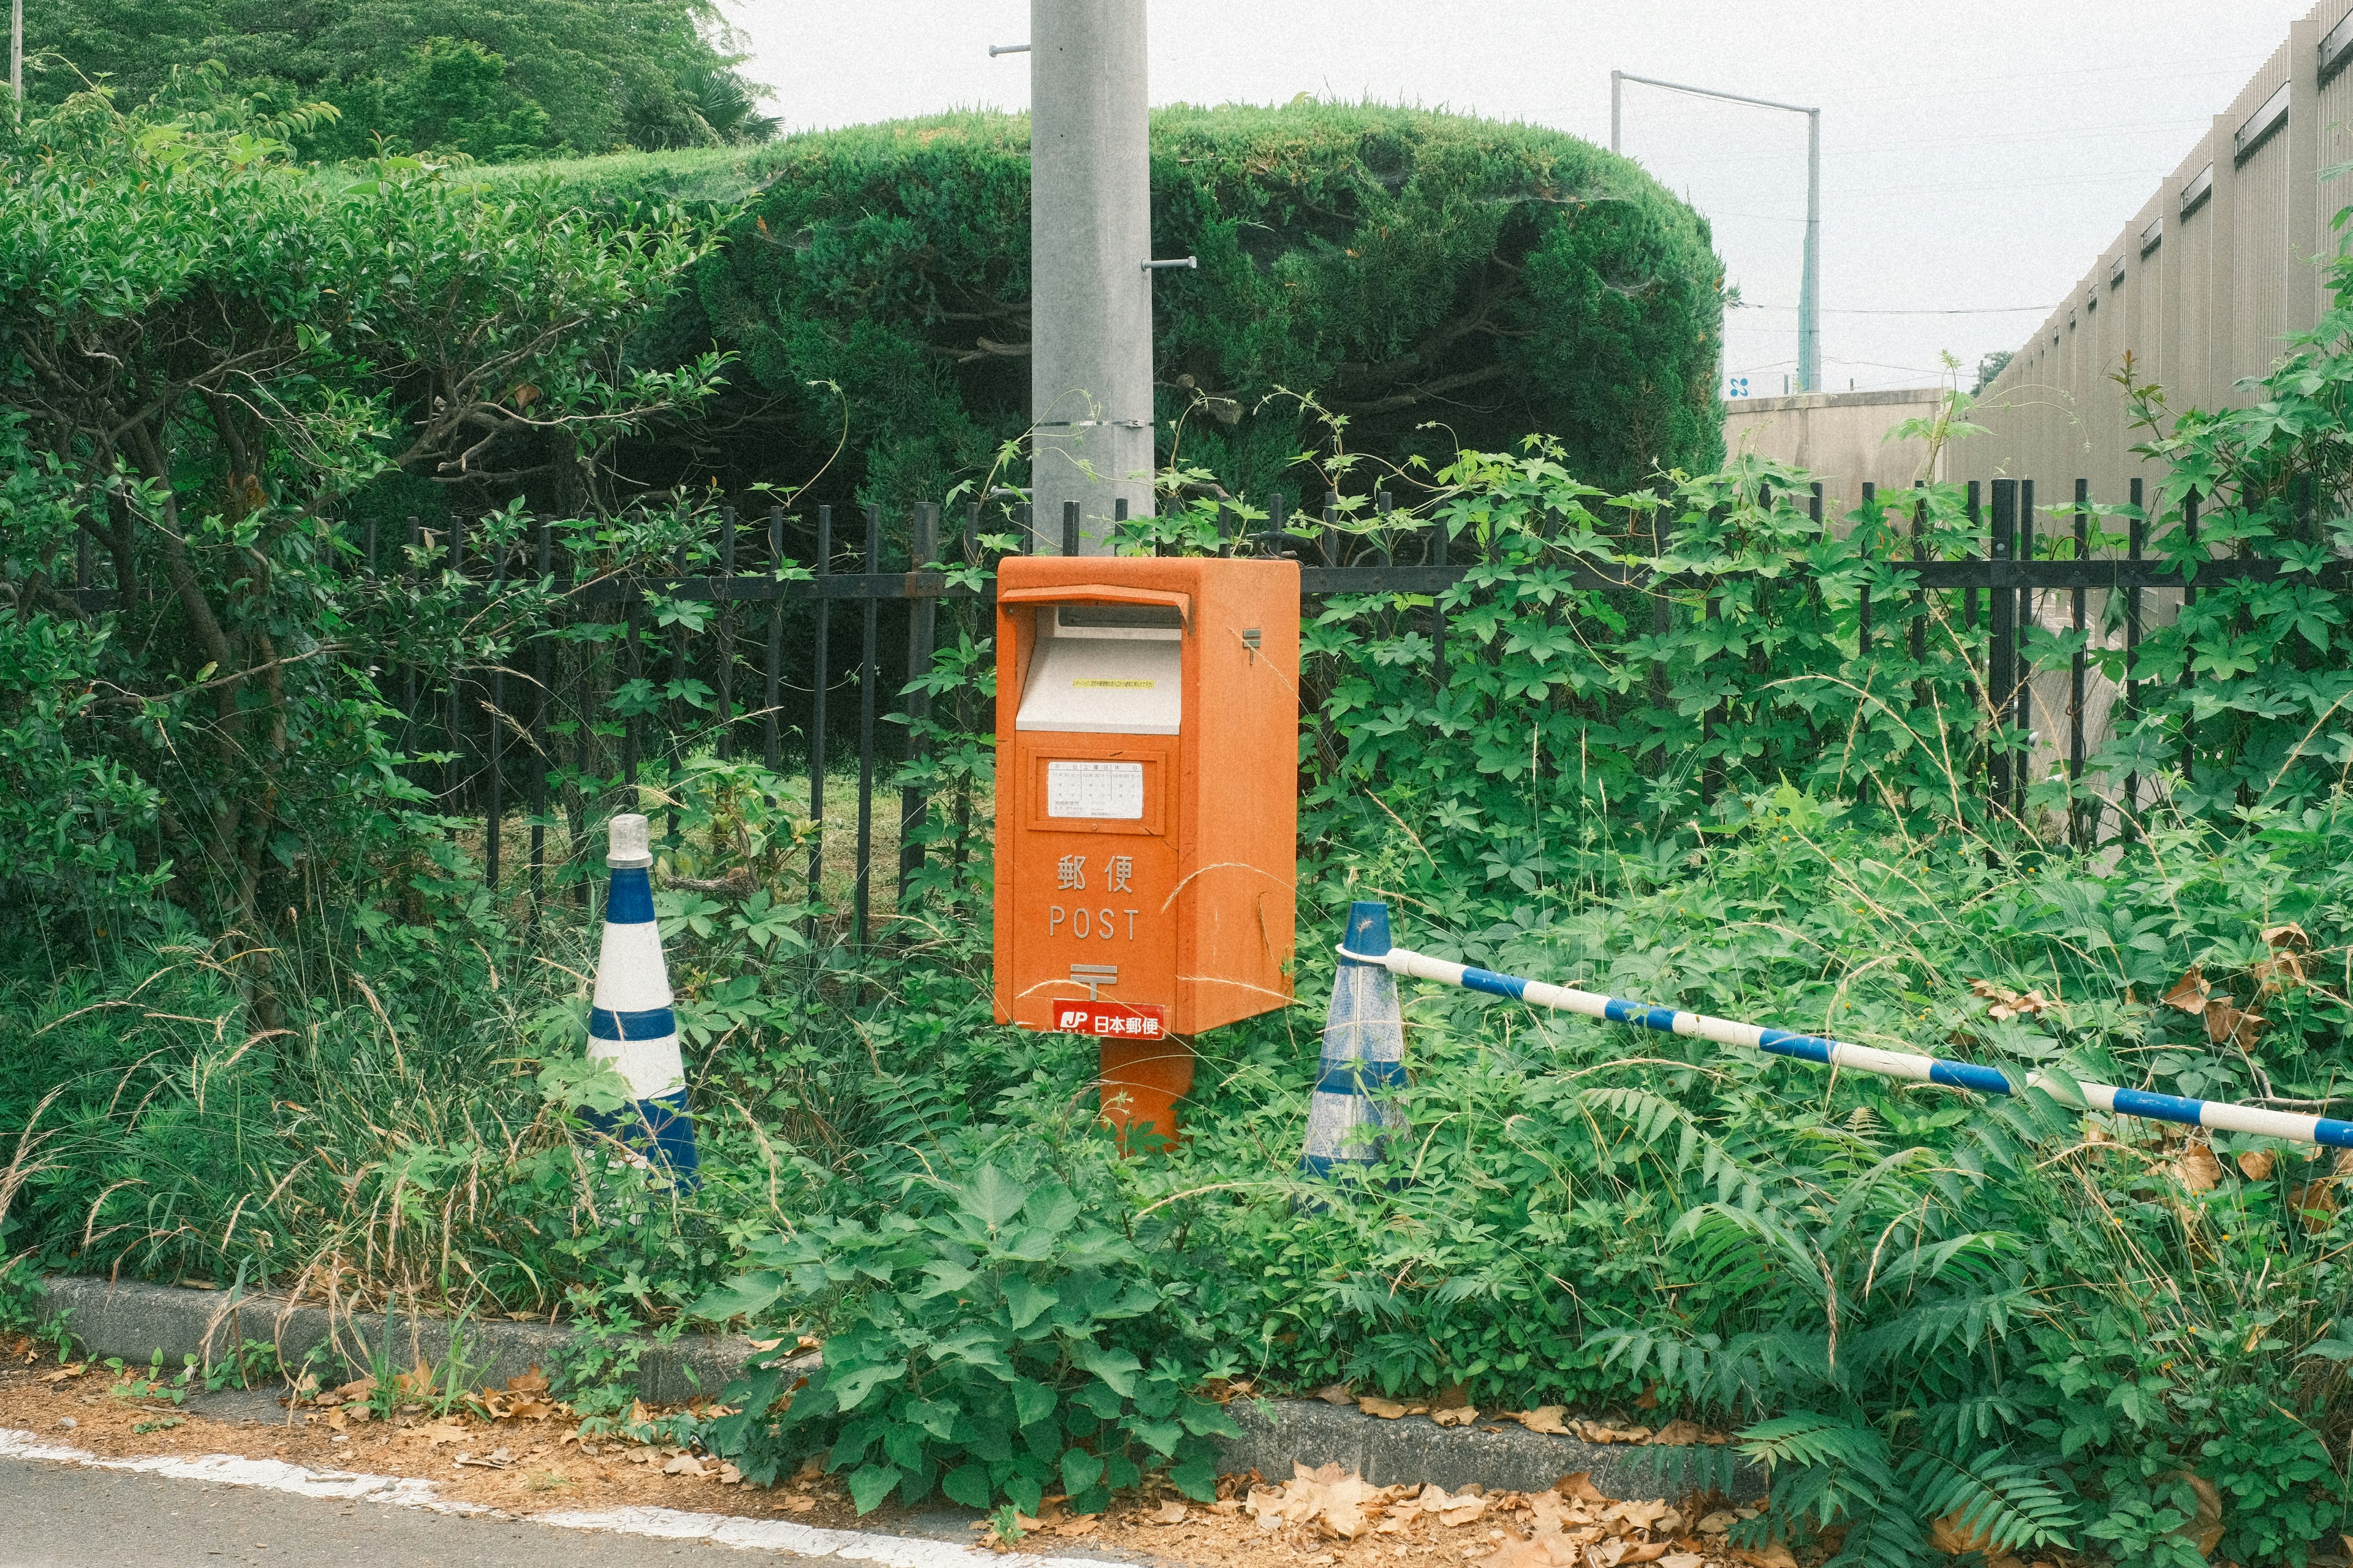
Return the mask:
M 1868 504 L 1871 487 L 1864 492 Z M 2141 499 L 2141 483 L 2134 480 L 2129 501 L 2139 506 Z M 2028 690 L 2035 676 L 2028 636 L 2038 624 L 2038 596 L 2064 593 L 2078 631 L 2087 626 L 2089 593 L 2125 596 L 2122 702 L 2129 706 L 2139 683 L 2137 650 L 2146 593 L 2177 591 L 2184 603 L 2193 603 L 2198 584 L 2271 579 L 2280 572 L 2273 560 L 2212 560 L 2198 567 L 2195 582 L 2186 582 L 2167 563 L 2144 558 L 2146 525 L 2139 520 L 2129 523 L 2120 558 L 2094 558 L 2089 501 L 2085 483 L 2075 480 L 2068 504 L 2054 509 L 2068 513 L 2075 556 L 2038 558 L 2040 509 L 2033 480 L 1972 480 L 1967 518 L 1972 532 L 1984 530 L 1984 551 L 1934 558 L 1934 546 L 1920 539 L 1915 523 L 1911 556 L 1892 560 L 1918 584 L 1911 591 L 1915 603 L 1927 596 L 1958 598 L 1953 610 L 1965 643 L 1977 650 L 1972 664 L 1977 680 L 1984 683 L 1979 692 L 1984 709 L 2007 716 L 2019 730 L 2028 727 Z M 1809 509 L 1819 523 L 1819 485 Z M 1377 499 L 1377 516 L 1384 523 L 1393 518 L 1386 494 Z M 873 932 L 878 786 L 887 789 L 887 775 L 899 772 L 904 763 L 925 760 L 925 737 L 934 718 L 932 695 L 911 676 L 932 669 L 941 612 L 953 617 L 955 636 L 972 643 L 988 636 L 984 617 L 993 582 L 986 572 L 998 558 L 988 539 L 1002 544 L 1009 534 L 1016 549 L 1028 551 L 1038 549 L 1040 537 L 1026 506 L 1000 506 L 991 513 L 979 501 L 958 509 L 951 537 L 941 532 L 939 504 L 913 506 L 896 537 L 885 530 L 878 506 L 864 509 L 859 520 L 861 534 L 845 539 L 835 530 L 831 506 L 819 506 L 814 518 L 805 520 L 772 506 L 765 518 L 755 513 L 753 523 L 729 506 L 715 516 L 715 537 L 706 549 L 680 549 L 671 572 L 607 570 L 588 577 L 574 570 L 555 527 L 546 520 L 534 523 L 527 539 L 485 551 L 468 542 L 475 530 L 466 520 L 452 520 L 447 530 L 428 534 L 412 518 L 407 539 L 412 551 L 400 560 L 384 551 L 369 525 L 365 539 L 355 544 L 372 577 L 400 574 L 409 570 L 409 560 L 428 556 L 438 556 L 435 570 L 480 582 L 489 591 L 513 574 L 529 572 L 553 584 L 569 614 L 600 622 L 607 631 L 591 643 L 529 636 L 520 643 L 520 657 L 480 669 L 395 664 L 395 671 L 379 676 L 381 690 L 405 720 L 402 753 L 440 758 L 438 768 L 414 763 L 412 777 L 438 796 L 442 812 L 480 819 L 482 871 L 492 888 L 525 892 L 536 909 L 551 892 L 548 829 L 567 826 L 569 843 L 565 855 L 555 857 L 562 876 L 553 881 L 569 881 L 579 897 L 586 897 L 588 866 L 574 850 L 586 845 L 588 808 L 600 789 L 616 784 L 621 798 L 635 800 L 640 784 L 673 779 L 689 746 L 708 744 L 722 760 L 755 746 L 772 775 L 784 775 L 788 763 L 807 775 L 807 888 L 809 902 L 819 904 L 828 833 L 840 826 L 840 808 L 828 798 L 831 772 L 838 751 L 854 746 L 845 935 L 852 944 L 866 946 Z M 1002 523 L 1005 532 L 993 532 L 991 523 Z M 1257 527 L 1221 506 L 1214 549 L 1224 556 L 1299 558 L 1306 598 L 1428 596 L 1433 603 L 1424 614 L 1433 643 L 1431 676 L 1445 687 L 1449 610 L 1440 596 L 1482 565 L 1475 551 L 1471 560 L 1459 558 L 1464 544 L 1449 542 L 1442 527 L 1428 523 L 1400 520 L 1367 534 L 1348 527 L 1334 506 L 1308 527 L 1299 523 L 1299 513 L 1289 511 L 1282 497 L 1273 497 Z M 2186 513 L 2186 527 L 2195 534 L 2195 504 Z M 1075 504 L 1061 518 L 1059 544 L 1064 551 L 1078 549 Z M 1457 556 L 1449 558 L 1449 549 Z M 706 570 L 694 570 L 696 563 Z M 1802 563 L 1793 565 L 1802 570 Z M 1711 586 L 1708 579 L 1692 574 L 1640 567 L 1619 572 L 1591 560 L 1560 563 L 1555 582 L 1638 593 L 1652 589 L 1704 593 Z M 2353 563 L 2325 567 L 2322 582 L 2337 589 L 2353 586 Z M 92 582 L 87 534 L 78 560 L 78 591 L 80 603 L 94 612 L 115 600 L 111 586 Z M 711 614 L 704 622 L 673 617 L 664 626 L 649 626 L 647 617 L 661 603 L 711 605 Z M 835 607 L 854 614 L 852 626 L 835 626 Z M 1713 600 L 1706 600 L 1706 612 L 1713 614 Z M 1666 631 L 1671 605 L 1664 593 L 1652 593 L 1652 614 L 1654 629 Z M 1906 619 L 1911 655 L 1918 662 L 1925 655 L 1925 619 L 1918 614 Z M 854 636 L 852 657 L 842 657 L 842 631 Z M 1873 636 L 1871 593 L 1864 591 L 1857 605 L 1859 652 L 1871 652 Z M 2087 669 L 2089 655 L 2078 650 L 2068 669 L 2064 751 L 2071 777 L 2080 777 L 2087 760 Z M 654 676 L 664 671 L 668 680 L 656 685 Z M 2179 678 L 2193 680 L 2191 673 Z M 746 683 L 755 697 L 744 690 Z M 616 704 L 616 695 L 633 697 Z M 856 704 L 854 739 L 840 732 L 845 716 L 838 704 L 845 697 Z M 969 683 L 960 685 L 951 702 L 953 711 L 941 718 L 953 730 L 991 727 L 993 718 L 979 711 Z M 605 716 L 616 709 L 624 716 L 614 725 Z M 1993 746 L 1984 765 L 1988 793 L 2021 810 L 2026 768 L 2017 753 Z M 647 779 L 649 772 L 659 777 Z M 2127 808 L 2134 805 L 2132 789 L 2127 782 Z M 513 885 L 518 869 L 506 843 L 508 817 L 518 805 L 527 833 L 520 888 Z M 901 895 L 925 866 L 927 845 L 920 829 L 929 808 L 927 786 L 908 784 L 899 791 L 894 876 Z M 955 878 L 962 876 L 969 855 L 972 810 L 967 786 L 955 803 Z M 2087 829 L 2078 824 L 2078 833 Z

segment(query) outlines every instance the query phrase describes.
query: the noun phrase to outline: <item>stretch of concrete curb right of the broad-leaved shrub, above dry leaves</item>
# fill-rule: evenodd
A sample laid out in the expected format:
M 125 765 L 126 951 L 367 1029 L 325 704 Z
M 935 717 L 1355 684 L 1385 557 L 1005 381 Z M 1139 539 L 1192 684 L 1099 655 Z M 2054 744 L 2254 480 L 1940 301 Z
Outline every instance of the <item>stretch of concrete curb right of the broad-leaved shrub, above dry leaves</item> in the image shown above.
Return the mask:
M 1426 1415 L 1381 1420 L 1353 1406 L 1320 1398 L 1238 1398 L 1226 1406 L 1242 1436 L 1219 1448 L 1226 1474 L 1254 1469 L 1280 1486 L 1292 1464 L 1332 1464 L 1365 1476 L 1372 1486 L 1435 1483 L 1449 1493 L 1478 1481 L 1489 1493 L 1541 1493 L 1560 1476 L 1586 1471 L 1612 1497 L 1657 1497 L 1657 1448 L 1640 1443 L 1586 1443 L 1546 1436 L 1518 1422 L 1440 1427 Z M 1765 1469 L 1737 1462 L 1727 1493 L 1734 1500 L 1765 1495 Z

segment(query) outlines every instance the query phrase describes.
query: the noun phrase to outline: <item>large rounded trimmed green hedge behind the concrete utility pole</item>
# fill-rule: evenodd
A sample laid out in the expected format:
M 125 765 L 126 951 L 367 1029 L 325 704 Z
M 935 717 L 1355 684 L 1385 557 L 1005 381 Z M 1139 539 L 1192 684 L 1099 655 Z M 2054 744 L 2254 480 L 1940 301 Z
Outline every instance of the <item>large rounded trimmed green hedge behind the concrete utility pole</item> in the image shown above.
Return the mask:
M 824 384 L 849 403 L 838 473 L 873 499 L 939 494 L 1026 426 L 1026 118 L 558 174 L 595 202 L 751 193 L 656 344 L 741 356 L 748 424 L 701 471 L 805 478 L 791 464 L 840 433 Z M 1708 224 L 1574 137 L 1414 108 L 1165 108 L 1153 245 L 1200 257 L 1153 285 L 1160 459 L 1193 410 L 1181 461 L 1245 492 L 1311 480 L 1287 471 L 1320 431 L 1261 405 L 1275 388 L 1315 393 L 1348 414 L 1351 450 L 1393 461 L 1544 431 L 1581 478 L 1635 485 L 1722 454 Z

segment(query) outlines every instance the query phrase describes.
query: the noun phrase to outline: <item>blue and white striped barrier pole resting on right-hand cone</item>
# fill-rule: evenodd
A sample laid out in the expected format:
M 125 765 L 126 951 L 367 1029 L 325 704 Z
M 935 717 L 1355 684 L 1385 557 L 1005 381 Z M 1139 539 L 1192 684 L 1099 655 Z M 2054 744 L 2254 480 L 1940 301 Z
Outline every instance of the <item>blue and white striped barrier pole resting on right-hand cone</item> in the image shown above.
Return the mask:
M 1362 904 L 1358 909 L 1362 909 Z M 1341 946 L 1339 951 L 1341 963 L 1381 963 L 1391 977 L 1407 975 L 1412 979 L 1435 979 L 1438 984 L 1461 986 L 1464 991 L 1508 996 L 1511 1001 L 1522 1001 L 1532 1008 L 1581 1012 L 1586 1017 L 1607 1019 L 1612 1024 L 1635 1024 L 1659 1034 L 1689 1034 L 1701 1041 L 1715 1041 L 1718 1045 L 1744 1045 L 1774 1057 L 1793 1057 L 1798 1062 L 1819 1062 L 1824 1067 L 1842 1067 L 1847 1071 L 1880 1074 L 1882 1078 L 1941 1083 L 1946 1088 L 1965 1088 L 1981 1095 L 2014 1095 L 2024 1083 L 2026 1088 L 2054 1092 L 2061 1099 L 2068 1097 L 2068 1088 L 2061 1081 L 2045 1078 L 2042 1074 L 2026 1074 L 2024 1078 L 2012 1081 L 2000 1069 L 1977 1067 L 1972 1062 L 1944 1062 L 1939 1057 L 1922 1057 L 1908 1050 L 1878 1050 L 1873 1045 L 1831 1041 L 1819 1034 L 1760 1029 L 1758 1024 L 1734 1024 L 1732 1019 L 1708 1017 L 1704 1012 L 1652 1008 L 1649 1003 L 1600 996 L 1598 991 L 1577 991 L 1572 986 L 1555 986 L 1541 979 L 1522 979 L 1520 975 L 1497 975 L 1494 970 L 1447 963 L 1445 958 L 1431 958 L 1428 954 L 1414 954 L 1402 946 L 1391 946 L 1379 958 L 1351 954 L 1348 946 Z M 2261 1107 L 2231 1104 L 2226 1099 L 2151 1095 L 2148 1090 L 2115 1088 L 2113 1083 L 2073 1081 L 2073 1090 L 2080 1092 L 2085 1104 L 2094 1111 L 2111 1111 L 2115 1116 L 2172 1121 L 2186 1128 L 2212 1128 L 2217 1132 L 2285 1137 L 2299 1144 L 2320 1144 L 2325 1149 L 2353 1149 L 2353 1121 L 2266 1111 Z

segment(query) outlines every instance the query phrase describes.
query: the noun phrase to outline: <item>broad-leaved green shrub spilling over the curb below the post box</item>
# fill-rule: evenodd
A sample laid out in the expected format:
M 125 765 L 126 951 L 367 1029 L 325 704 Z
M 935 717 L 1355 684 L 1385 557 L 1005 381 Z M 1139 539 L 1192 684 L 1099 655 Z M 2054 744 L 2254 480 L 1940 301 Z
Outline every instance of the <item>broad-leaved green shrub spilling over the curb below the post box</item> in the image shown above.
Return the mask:
M 795 1391 L 791 1349 L 755 1358 L 715 1441 L 760 1483 L 824 1455 L 861 1514 L 934 1488 L 1024 1514 L 1059 1488 L 1099 1514 L 1146 1467 L 1214 1500 L 1214 1439 L 1240 1429 L 1198 1389 L 1228 1358 L 1205 1356 L 1172 1311 L 1193 1295 L 1174 1260 L 1111 1227 L 1125 1205 L 1104 1147 L 1064 1161 L 1080 1191 L 1031 1144 L 1026 1180 L 984 1161 L 953 1184 L 911 1182 L 871 1222 L 753 1241 L 751 1269 L 696 1314 L 779 1328 L 786 1347 L 816 1328 L 824 1366 Z

